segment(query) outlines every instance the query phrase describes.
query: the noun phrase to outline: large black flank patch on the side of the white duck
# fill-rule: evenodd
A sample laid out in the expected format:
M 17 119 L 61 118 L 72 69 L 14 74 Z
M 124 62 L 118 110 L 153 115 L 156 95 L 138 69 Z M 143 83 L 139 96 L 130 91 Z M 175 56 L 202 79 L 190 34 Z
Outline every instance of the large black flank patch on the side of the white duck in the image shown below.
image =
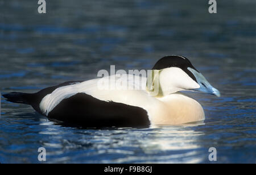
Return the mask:
M 150 126 L 147 111 L 141 107 L 101 101 L 85 93 L 61 101 L 48 114 L 48 118 L 81 127 Z

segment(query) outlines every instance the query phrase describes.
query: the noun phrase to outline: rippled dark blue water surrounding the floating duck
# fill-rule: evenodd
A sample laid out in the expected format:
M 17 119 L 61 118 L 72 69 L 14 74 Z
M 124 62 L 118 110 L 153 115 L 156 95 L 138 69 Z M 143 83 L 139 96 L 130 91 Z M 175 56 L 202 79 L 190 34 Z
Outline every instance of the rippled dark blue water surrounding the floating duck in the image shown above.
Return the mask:
M 1 100 L 0 162 L 217 163 L 256 161 L 256 2 L 0 1 L 0 90 L 35 92 L 100 69 L 150 69 L 187 56 L 220 98 L 193 94 L 206 120 L 184 126 L 81 130 Z M 135 116 L 131 116 L 135 117 Z

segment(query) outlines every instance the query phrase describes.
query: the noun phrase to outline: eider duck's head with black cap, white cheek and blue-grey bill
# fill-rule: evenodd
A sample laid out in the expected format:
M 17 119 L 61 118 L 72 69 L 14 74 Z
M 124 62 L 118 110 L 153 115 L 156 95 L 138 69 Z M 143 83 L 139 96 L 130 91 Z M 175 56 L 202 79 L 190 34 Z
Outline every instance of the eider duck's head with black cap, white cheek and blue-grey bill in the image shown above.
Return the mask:
M 176 55 L 165 56 L 156 62 L 151 76 L 147 78 L 147 90 L 157 96 L 196 91 L 220 97 L 220 91 L 210 85 L 186 57 Z

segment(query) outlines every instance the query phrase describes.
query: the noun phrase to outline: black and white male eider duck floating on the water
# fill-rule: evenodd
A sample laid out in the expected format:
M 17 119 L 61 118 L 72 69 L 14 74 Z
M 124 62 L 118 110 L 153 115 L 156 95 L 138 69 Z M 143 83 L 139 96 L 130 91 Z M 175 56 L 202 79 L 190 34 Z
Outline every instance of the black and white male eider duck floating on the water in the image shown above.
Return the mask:
M 149 127 L 196 122 L 205 119 L 203 107 L 180 91 L 220 97 L 220 92 L 183 56 L 160 59 L 152 68 L 151 78 L 141 77 L 141 85 L 134 78 L 127 78 L 129 84 L 141 88 L 98 88 L 99 81 L 111 78 L 117 80 L 115 83 L 123 82 L 118 81 L 120 74 L 115 74 L 88 81 L 64 82 L 38 93 L 14 92 L 3 97 L 10 102 L 31 105 L 49 120 L 82 127 Z M 158 86 L 153 87 L 156 84 Z M 154 94 L 156 87 L 158 90 Z

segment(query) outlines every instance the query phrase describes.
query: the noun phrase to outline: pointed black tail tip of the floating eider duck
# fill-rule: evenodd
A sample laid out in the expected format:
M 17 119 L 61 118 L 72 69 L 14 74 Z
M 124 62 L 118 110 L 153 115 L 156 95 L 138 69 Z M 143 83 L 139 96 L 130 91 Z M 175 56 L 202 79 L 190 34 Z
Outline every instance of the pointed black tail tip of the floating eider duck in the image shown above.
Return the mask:
M 16 93 L 16 92 L 7 93 L 7 94 L 3 94 L 3 97 L 5 97 L 6 100 L 9 102 L 30 105 L 31 94 L 28 94 L 28 93 Z

